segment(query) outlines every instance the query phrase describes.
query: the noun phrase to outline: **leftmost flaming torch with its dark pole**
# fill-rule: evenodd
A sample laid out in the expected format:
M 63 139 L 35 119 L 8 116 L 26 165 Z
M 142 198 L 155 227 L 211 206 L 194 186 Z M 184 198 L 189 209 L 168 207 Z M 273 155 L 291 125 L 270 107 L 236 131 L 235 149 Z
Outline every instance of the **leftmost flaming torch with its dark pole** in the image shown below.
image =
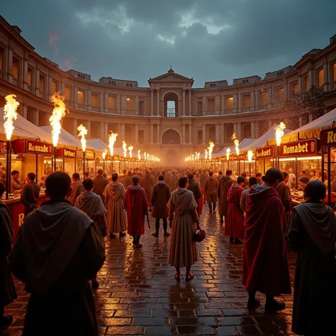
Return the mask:
M 6 199 L 9 199 L 9 191 L 11 189 L 11 136 L 14 130 L 14 121 L 18 118 L 16 109 L 20 105 L 15 100 L 15 94 L 9 94 L 5 97 L 6 105 L 4 106 L 4 129 L 6 133 Z

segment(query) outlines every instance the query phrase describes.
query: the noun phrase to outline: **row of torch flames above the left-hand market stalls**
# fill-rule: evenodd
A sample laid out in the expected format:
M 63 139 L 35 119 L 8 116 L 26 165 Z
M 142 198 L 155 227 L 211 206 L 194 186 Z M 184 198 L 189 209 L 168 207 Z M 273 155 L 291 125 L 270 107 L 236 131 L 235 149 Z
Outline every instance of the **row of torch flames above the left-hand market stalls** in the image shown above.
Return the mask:
M 4 106 L 4 129 L 6 133 L 6 139 L 7 141 L 11 141 L 11 137 L 13 135 L 13 130 L 14 130 L 14 121 L 16 118 L 18 118 L 18 113 L 16 113 L 16 110 L 20 103 L 16 101 L 16 95 L 15 94 L 9 94 L 5 98 L 6 100 L 6 105 Z M 62 118 L 64 118 L 69 111 L 67 110 L 67 106 L 65 106 L 65 97 L 60 95 L 60 92 L 55 92 L 55 94 L 52 95 L 50 101 L 54 103 L 54 109 L 52 111 L 52 116 L 50 116 L 49 122 L 52 127 L 52 144 L 54 147 L 57 147 L 58 144 L 58 139 L 60 137 L 60 133 L 62 130 Z M 86 151 L 86 135 L 88 133 L 88 130 L 85 128 L 84 125 L 79 125 L 77 127 L 78 130 L 78 137 L 81 138 L 81 143 L 82 143 L 82 150 L 83 152 Z M 111 131 L 108 135 L 108 147 L 110 149 L 110 154 L 111 157 L 113 157 L 113 150 L 114 150 L 114 144 L 117 140 L 118 133 L 113 133 Z M 129 157 L 132 159 L 133 157 L 133 146 L 130 145 L 127 147 L 127 144 L 125 141 L 123 141 L 123 155 L 124 157 L 128 157 L 127 151 L 129 152 Z M 103 159 L 106 158 L 107 155 L 107 150 L 103 152 Z M 141 152 L 138 150 L 138 159 L 142 159 L 141 157 Z M 147 161 L 156 161 L 159 162 L 160 159 L 158 157 L 155 157 L 154 155 L 150 155 L 150 153 L 144 153 L 143 154 L 143 159 Z

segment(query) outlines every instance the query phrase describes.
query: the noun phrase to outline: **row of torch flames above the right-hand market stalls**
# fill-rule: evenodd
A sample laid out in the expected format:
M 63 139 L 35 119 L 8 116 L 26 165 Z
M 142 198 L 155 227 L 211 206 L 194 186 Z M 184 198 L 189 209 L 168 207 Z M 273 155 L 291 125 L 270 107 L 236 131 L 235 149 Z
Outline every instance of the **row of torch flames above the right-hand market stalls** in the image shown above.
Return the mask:
M 274 128 L 275 130 L 275 138 L 276 138 L 276 146 L 280 146 L 281 145 L 281 141 L 282 141 L 282 137 L 284 136 L 284 130 L 286 129 L 286 125 L 281 121 L 281 123 L 279 125 L 276 126 L 276 128 Z M 235 152 L 237 155 L 240 154 L 240 149 L 239 149 L 239 140 L 237 139 L 237 135 L 236 133 L 233 133 L 233 136 L 231 137 L 231 140 L 233 140 L 233 143 L 235 144 Z M 215 144 L 213 143 L 213 141 L 209 142 L 209 147 L 205 150 L 205 154 L 206 160 L 210 160 L 212 159 L 212 153 L 213 153 L 213 147 L 215 147 Z M 226 159 L 229 160 L 230 159 L 230 148 L 226 149 Z M 195 152 L 195 154 L 191 154 L 188 157 L 186 157 L 185 161 L 186 162 L 195 162 L 198 161 L 200 157 L 200 153 L 199 152 Z M 252 162 L 252 159 L 254 157 L 254 152 L 253 150 L 248 150 L 247 151 L 247 160 L 248 162 Z

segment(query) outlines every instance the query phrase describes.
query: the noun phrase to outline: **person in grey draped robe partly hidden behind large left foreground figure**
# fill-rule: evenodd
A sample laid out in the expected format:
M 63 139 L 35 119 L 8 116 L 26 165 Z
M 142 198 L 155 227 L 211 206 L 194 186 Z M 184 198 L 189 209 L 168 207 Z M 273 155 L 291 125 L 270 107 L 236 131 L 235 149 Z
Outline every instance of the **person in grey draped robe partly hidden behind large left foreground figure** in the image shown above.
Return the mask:
M 101 196 L 93 192 L 94 181 L 92 179 L 84 179 L 83 186 L 85 191 L 77 197 L 74 206 L 82 210 L 94 221 L 96 234 L 99 237 L 101 245 L 105 247 L 104 237 L 107 235 L 106 208 L 103 205 Z M 94 289 L 99 287 L 99 282 L 96 278 L 97 276 L 94 276 L 94 279 L 92 279 L 92 288 Z

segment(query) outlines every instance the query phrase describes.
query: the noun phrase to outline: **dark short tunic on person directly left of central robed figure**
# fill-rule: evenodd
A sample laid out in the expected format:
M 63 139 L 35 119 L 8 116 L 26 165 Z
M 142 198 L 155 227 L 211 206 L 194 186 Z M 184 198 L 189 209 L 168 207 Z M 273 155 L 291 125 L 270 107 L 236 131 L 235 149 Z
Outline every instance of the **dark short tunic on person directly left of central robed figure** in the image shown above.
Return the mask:
M 155 184 L 152 194 L 153 211 L 152 216 L 154 218 L 167 218 L 168 208 L 167 203 L 170 198 L 170 188 L 164 181 L 159 181 Z

